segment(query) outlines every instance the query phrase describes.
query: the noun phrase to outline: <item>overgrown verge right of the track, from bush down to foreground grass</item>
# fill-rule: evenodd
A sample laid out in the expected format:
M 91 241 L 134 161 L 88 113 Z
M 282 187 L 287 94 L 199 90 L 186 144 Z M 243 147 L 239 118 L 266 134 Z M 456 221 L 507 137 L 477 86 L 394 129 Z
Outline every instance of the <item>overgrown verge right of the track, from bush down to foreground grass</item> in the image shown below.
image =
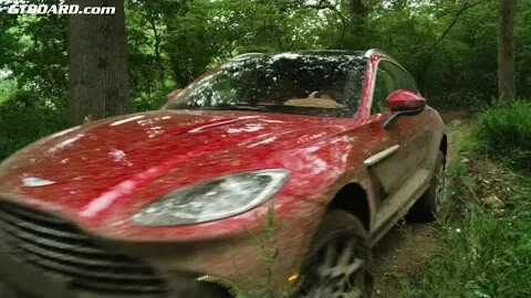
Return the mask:
M 447 170 L 451 200 L 438 221 L 441 247 L 428 257 L 420 280 L 405 283 L 402 297 L 530 297 L 531 175 L 513 172 L 507 158 L 496 159 L 529 149 L 529 139 L 521 139 L 531 132 L 528 115 L 525 102 L 485 110 L 472 138 L 454 146 L 457 157 Z

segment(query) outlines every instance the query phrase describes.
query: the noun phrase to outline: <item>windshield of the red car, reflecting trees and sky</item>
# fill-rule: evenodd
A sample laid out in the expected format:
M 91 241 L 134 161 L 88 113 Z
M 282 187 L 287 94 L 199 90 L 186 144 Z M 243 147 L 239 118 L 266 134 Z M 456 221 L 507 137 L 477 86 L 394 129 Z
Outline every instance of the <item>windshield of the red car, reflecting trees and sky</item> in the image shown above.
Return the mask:
M 248 54 L 192 83 L 169 108 L 353 117 L 365 64 L 345 54 Z

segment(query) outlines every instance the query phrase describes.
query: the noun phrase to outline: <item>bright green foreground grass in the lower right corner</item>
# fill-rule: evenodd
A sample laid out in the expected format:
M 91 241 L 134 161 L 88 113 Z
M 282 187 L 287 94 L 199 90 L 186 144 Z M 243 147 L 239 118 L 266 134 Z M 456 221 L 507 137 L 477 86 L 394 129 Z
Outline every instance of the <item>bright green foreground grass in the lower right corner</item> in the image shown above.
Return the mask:
M 426 264 L 406 297 L 529 297 L 531 291 L 531 191 L 520 190 L 504 212 L 478 202 L 444 224 L 444 248 Z

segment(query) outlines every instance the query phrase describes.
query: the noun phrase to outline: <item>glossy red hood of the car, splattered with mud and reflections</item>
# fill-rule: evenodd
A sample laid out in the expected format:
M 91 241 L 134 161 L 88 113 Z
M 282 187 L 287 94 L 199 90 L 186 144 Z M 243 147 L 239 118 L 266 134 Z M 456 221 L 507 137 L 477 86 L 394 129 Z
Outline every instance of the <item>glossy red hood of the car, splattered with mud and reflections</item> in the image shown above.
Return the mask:
M 179 185 L 283 167 L 272 156 L 335 135 L 344 123 L 220 110 L 158 110 L 103 119 L 52 135 L 6 160 L 0 166 L 0 193 L 93 217 L 115 201 L 135 209 Z

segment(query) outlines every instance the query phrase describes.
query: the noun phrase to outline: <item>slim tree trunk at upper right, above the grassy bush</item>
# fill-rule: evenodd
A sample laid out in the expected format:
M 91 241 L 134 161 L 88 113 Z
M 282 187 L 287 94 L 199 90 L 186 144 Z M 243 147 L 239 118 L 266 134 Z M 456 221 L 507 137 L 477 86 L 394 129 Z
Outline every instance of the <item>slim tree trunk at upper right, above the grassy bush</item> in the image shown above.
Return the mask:
M 514 13 L 517 0 L 500 0 L 500 31 L 498 34 L 498 96 L 513 99 L 514 87 Z

